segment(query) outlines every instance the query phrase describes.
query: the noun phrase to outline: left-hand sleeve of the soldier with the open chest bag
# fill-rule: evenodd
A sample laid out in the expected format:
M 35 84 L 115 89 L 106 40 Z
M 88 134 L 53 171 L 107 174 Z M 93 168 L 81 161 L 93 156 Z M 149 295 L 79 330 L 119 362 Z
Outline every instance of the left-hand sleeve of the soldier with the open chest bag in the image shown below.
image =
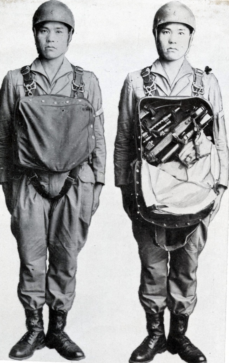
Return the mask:
M 118 105 L 118 126 L 114 144 L 114 178 L 116 187 L 128 184 L 130 163 L 134 159 L 132 149 L 133 118 L 136 102 L 130 74 L 126 77 Z

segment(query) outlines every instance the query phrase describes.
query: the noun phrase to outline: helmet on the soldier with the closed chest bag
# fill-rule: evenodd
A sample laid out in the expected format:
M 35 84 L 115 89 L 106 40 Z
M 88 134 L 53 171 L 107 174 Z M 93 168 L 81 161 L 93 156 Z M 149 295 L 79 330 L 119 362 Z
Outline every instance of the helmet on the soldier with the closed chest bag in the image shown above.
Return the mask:
M 60 21 L 72 28 L 74 31 L 74 16 L 67 5 L 57 0 L 49 0 L 41 4 L 33 15 L 33 27 L 43 21 Z

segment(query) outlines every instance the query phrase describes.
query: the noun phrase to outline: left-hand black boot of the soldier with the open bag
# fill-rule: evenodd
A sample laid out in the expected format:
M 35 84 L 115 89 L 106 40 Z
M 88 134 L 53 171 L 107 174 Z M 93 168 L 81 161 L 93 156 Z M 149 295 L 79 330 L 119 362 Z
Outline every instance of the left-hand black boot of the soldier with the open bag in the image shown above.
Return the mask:
M 133 351 L 129 359 L 130 363 L 148 363 L 157 353 L 166 351 L 164 311 L 159 314 L 146 313 L 146 321 L 149 335 Z

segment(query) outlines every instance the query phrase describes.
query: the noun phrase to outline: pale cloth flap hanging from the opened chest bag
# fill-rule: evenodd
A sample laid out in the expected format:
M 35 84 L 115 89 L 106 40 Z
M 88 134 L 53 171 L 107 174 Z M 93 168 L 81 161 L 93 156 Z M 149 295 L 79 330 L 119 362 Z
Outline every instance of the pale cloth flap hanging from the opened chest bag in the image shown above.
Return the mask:
M 174 161 L 155 167 L 142 160 L 142 193 L 147 207 L 155 205 L 160 213 L 195 214 L 216 198 L 217 150 L 205 135 L 197 137 L 204 140 L 200 142 L 201 157 L 189 167 Z

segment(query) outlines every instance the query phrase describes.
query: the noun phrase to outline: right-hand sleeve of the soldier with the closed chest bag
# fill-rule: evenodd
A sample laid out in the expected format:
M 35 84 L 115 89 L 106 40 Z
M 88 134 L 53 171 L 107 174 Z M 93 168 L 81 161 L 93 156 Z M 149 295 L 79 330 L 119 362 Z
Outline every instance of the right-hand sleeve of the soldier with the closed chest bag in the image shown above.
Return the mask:
M 95 109 L 95 139 L 96 147 L 92 152 L 92 170 L 95 175 L 95 181 L 104 184 L 105 162 L 106 162 L 106 147 L 104 139 L 104 116 L 102 108 L 102 97 L 99 86 L 99 81 L 95 74 L 92 73 L 91 83 L 88 92 L 92 106 Z

